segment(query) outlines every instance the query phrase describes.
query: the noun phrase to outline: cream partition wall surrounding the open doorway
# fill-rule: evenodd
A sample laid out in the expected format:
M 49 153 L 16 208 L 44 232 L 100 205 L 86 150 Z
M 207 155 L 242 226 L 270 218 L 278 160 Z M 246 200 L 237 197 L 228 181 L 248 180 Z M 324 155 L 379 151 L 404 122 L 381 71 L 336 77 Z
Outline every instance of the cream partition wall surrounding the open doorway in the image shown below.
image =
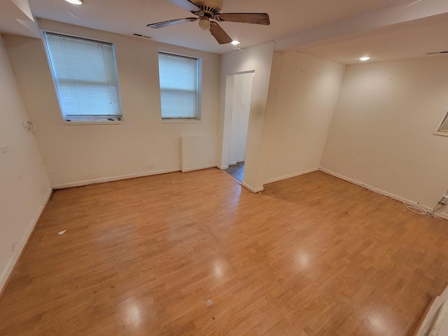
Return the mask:
M 231 80 L 228 80 L 229 75 L 255 71 L 242 183 L 252 192 L 262 190 L 262 172 L 259 170 L 260 150 L 274 44 L 272 41 L 246 48 L 243 52 L 234 50 L 221 56 L 220 103 L 218 106 L 218 159 L 220 159 L 218 166 L 221 168 L 227 167 L 229 161 L 232 113 L 228 112 L 231 109 L 226 109 L 226 105 L 232 102 L 229 101 L 229 94 L 226 94 L 226 90 L 233 87 L 230 85 Z

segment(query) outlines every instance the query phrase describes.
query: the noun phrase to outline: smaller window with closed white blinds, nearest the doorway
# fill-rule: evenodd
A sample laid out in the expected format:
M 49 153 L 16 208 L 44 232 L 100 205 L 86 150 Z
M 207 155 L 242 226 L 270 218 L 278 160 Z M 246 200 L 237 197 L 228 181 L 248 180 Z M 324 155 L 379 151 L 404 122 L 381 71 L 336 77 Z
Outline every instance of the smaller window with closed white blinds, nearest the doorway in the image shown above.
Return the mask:
M 159 52 L 162 119 L 200 120 L 200 59 Z

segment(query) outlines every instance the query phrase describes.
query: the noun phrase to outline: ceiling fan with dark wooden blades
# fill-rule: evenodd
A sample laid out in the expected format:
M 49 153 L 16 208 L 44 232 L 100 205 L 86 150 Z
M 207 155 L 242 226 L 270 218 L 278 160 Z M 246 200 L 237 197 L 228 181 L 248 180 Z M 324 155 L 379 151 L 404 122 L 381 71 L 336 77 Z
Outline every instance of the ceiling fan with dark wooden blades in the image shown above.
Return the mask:
M 269 25 L 269 15 L 266 13 L 222 13 L 223 0 L 169 0 L 180 6 L 197 18 L 183 18 L 177 20 L 162 21 L 147 25 L 151 28 L 163 28 L 177 25 L 183 22 L 193 22 L 199 20 L 199 27 L 202 30 L 210 31 L 219 44 L 232 42 L 232 38 L 222 29 L 216 21 L 253 23 L 256 25 Z

